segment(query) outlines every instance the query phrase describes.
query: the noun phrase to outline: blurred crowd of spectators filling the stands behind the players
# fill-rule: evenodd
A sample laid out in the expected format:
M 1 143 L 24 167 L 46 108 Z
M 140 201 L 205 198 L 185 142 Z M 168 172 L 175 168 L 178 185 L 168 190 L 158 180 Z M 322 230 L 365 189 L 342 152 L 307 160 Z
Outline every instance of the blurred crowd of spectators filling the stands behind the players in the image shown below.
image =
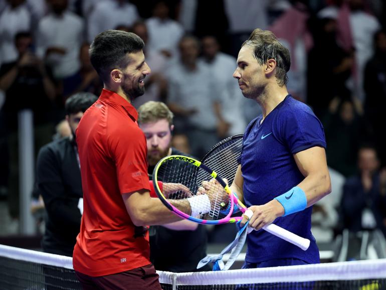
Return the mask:
M 54 134 L 69 134 L 69 96 L 100 94 L 88 57 L 98 33 L 144 40 L 152 73 L 133 105 L 165 102 L 175 147 L 201 158 L 260 113 L 232 74 L 241 44 L 261 28 L 290 50 L 288 90 L 324 125 L 333 191 L 315 206 L 315 233 L 331 240 L 339 228 L 367 226 L 386 234 L 385 25 L 382 0 L 0 0 L 0 197 L 17 220 L 18 112 L 34 112 L 37 154 Z M 368 221 L 367 210 L 372 223 L 355 220 L 366 212 Z

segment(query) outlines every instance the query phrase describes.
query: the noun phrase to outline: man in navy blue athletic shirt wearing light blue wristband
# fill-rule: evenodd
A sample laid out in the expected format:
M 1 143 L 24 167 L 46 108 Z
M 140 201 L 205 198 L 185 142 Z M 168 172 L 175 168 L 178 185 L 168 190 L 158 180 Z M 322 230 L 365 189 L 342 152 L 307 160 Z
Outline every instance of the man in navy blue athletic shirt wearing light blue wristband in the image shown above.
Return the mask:
M 311 240 L 308 250 L 266 231 L 247 238 L 243 268 L 319 262 L 311 234 L 312 205 L 331 192 L 323 126 L 312 110 L 288 94 L 288 50 L 270 31 L 256 29 L 243 43 L 233 76 L 262 115 L 244 133 L 241 165 L 231 186 L 244 200 L 254 229 L 275 223 Z

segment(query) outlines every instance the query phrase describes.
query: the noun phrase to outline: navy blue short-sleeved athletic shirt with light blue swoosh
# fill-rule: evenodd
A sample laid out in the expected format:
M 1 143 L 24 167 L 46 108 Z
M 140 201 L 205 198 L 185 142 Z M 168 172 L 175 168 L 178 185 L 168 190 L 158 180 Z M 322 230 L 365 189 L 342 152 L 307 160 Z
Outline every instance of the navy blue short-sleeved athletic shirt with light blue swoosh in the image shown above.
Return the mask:
M 261 122 L 252 120 L 244 133 L 241 169 L 244 200 L 247 207 L 263 205 L 298 185 L 303 179 L 293 155 L 311 147 L 326 147 L 323 126 L 312 110 L 291 97 L 277 105 Z M 319 262 L 319 250 L 311 234 L 309 207 L 274 221 L 299 236 L 311 240 L 307 251 L 264 230 L 248 235 L 246 261 L 297 258 L 307 263 Z

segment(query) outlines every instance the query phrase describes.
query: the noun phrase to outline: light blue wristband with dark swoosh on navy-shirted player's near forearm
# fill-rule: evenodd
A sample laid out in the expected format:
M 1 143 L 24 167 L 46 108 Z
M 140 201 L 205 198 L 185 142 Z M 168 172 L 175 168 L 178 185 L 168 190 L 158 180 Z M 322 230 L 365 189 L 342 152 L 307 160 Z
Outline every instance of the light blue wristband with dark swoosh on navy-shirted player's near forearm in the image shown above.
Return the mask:
M 297 186 L 291 188 L 286 193 L 275 197 L 275 199 L 284 207 L 283 216 L 302 211 L 307 206 L 306 194 Z

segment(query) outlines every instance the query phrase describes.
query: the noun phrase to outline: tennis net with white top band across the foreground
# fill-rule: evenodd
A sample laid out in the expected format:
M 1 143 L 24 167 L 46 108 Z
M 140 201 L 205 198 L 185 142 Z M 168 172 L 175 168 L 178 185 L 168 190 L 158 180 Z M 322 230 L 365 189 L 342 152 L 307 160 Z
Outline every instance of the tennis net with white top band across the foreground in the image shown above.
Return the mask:
M 164 290 L 386 289 L 386 259 L 197 273 L 158 271 L 158 274 Z M 0 289 L 81 289 L 81 286 L 72 268 L 72 258 L 0 245 Z

